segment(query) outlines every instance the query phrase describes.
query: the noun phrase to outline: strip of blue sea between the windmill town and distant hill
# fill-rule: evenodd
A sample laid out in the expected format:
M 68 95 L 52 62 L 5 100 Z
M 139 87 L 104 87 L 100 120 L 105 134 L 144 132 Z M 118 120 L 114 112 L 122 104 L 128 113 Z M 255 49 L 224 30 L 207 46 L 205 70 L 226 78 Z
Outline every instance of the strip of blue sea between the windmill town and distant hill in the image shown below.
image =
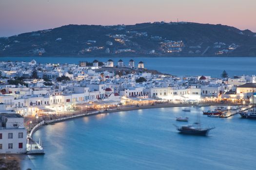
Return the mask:
M 253 75 L 256 74 L 256 57 L 122 57 L 125 65 L 130 59 L 138 64 L 143 61 L 145 68 L 156 69 L 172 75 L 209 75 L 220 77 L 225 69 L 229 75 Z M 31 61 L 38 63 L 69 63 L 79 64 L 79 61 L 92 62 L 98 59 L 107 62 L 107 57 L 1 57 L 0 61 Z M 120 58 L 112 58 L 117 65 Z

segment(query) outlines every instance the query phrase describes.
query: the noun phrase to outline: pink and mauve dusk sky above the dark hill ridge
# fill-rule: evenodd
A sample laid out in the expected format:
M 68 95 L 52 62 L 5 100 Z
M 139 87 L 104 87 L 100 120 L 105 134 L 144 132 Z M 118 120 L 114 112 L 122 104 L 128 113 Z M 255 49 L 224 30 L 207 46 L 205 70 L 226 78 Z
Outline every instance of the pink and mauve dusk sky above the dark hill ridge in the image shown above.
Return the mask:
M 0 37 L 68 24 L 136 24 L 177 18 L 256 32 L 256 0 L 0 0 Z

